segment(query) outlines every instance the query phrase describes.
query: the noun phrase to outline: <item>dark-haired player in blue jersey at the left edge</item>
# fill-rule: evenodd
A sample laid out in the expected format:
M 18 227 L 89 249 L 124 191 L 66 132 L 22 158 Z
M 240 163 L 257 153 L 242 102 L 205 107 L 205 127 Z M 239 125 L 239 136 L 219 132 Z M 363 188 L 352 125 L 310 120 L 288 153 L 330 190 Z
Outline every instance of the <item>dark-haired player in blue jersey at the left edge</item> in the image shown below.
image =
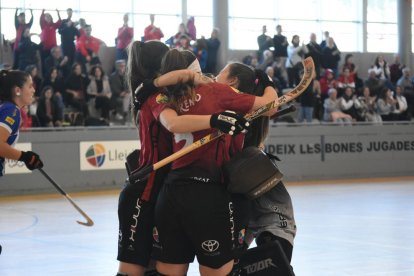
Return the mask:
M 43 167 L 39 155 L 13 147 L 19 138 L 20 108 L 32 103 L 34 92 L 28 73 L 0 71 L 0 177 L 4 175 L 6 158 L 24 162 L 29 170 Z

